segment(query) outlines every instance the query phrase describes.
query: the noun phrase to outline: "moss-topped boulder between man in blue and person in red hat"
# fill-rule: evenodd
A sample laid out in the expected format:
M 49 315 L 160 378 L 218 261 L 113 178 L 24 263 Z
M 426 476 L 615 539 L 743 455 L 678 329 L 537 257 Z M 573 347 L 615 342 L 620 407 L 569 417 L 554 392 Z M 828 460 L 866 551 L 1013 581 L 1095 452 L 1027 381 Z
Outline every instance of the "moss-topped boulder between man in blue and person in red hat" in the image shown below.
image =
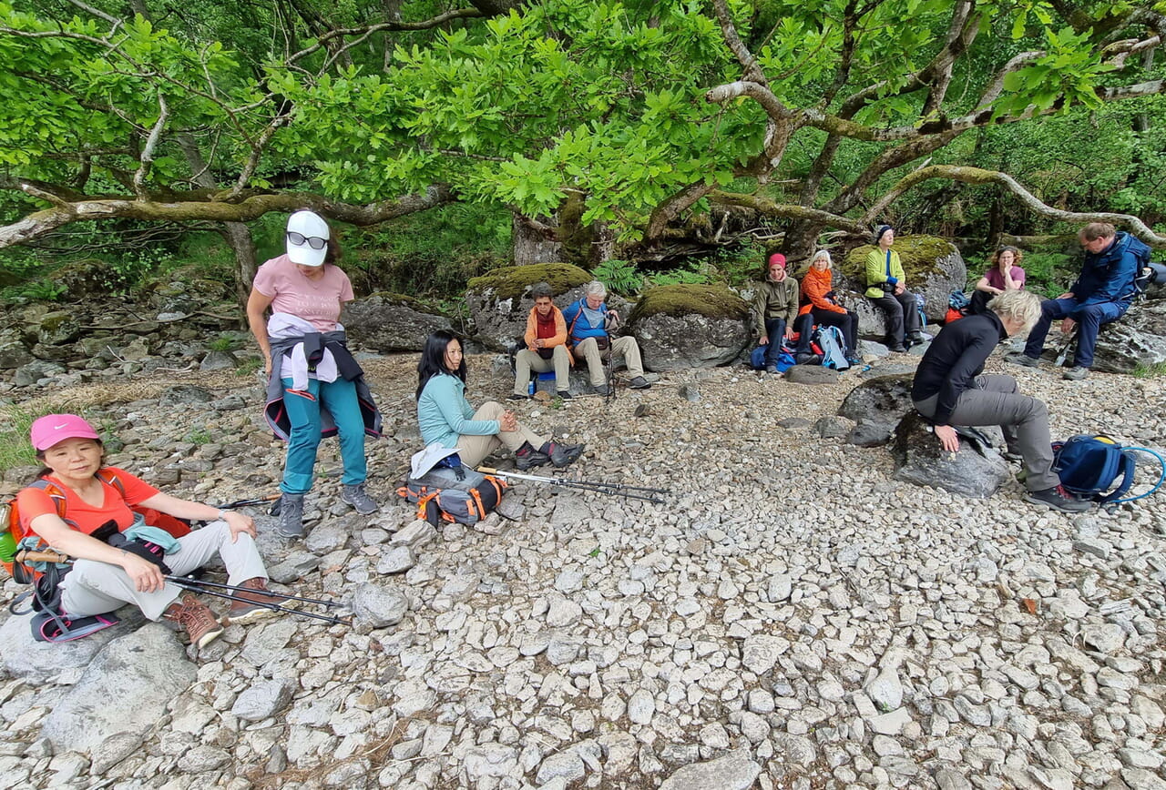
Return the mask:
M 753 339 L 749 304 L 724 285 L 651 288 L 627 324 L 656 372 L 728 365 Z

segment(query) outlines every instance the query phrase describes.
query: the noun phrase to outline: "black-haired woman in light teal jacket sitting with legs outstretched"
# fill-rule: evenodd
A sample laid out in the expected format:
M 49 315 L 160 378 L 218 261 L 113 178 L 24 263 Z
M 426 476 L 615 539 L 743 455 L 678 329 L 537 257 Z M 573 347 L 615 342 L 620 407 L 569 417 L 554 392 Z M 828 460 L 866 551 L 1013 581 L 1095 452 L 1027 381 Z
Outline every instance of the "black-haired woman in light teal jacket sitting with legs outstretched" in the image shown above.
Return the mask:
M 417 362 L 417 424 L 426 446 L 457 447 L 462 464 L 471 467 L 500 445 L 514 451 L 520 470 L 548 463 L 567 466 L 583 452 L 581 444 L 543 439 L 494 401 L 475 411 L 465 400 L 462 341 L 444 330 L 426 338 Z

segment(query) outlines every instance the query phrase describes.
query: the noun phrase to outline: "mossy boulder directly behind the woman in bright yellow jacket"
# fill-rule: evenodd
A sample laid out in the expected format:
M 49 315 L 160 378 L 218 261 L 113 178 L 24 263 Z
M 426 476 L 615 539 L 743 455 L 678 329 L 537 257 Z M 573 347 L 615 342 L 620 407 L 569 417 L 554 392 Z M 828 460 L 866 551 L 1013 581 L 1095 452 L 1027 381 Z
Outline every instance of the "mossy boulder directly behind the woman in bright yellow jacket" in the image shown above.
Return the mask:
M 881 337 L 885 334 L 883 311 L 863 296 L 866 290 L 866 255 L 872 249 L 872 245 L 863 245 L 847 253 L 838 261 L 834 284 L 835 290 L 845 292 L 847 306 L 858 313 L 858 333 Z M 960 251 L 951 242 L 933 235 L 897 237 L 893 249 L 902 261 L 907 288 L 923 296 L 927 319 L 943 320 L 951 291 L 963 290 L 968 284 L 968 267 Z

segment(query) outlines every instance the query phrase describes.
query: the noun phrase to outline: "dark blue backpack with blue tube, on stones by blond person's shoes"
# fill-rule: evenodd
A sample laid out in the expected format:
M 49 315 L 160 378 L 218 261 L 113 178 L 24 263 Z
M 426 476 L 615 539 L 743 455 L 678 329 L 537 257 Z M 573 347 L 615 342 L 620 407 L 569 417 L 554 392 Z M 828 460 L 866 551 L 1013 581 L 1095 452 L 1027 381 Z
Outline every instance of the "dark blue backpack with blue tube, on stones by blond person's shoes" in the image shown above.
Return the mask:
M 1150 491 L 1123 498 L 1133 485 L 1139 452 L 1157 458 L 1161 474 Z M 1166 480 L 1166 459 L 1146 447 L 1123 446 L 1108 436 L 1070 436 L 1062 443 L 1053 444 L 1053 471 L 1061 477 L 1061 485 L 1074 494 L 1102 505 L 1116 505 L 1132 502 L 1158 491 Z M 1115 481 L 1117 487 L 1110 491 Z

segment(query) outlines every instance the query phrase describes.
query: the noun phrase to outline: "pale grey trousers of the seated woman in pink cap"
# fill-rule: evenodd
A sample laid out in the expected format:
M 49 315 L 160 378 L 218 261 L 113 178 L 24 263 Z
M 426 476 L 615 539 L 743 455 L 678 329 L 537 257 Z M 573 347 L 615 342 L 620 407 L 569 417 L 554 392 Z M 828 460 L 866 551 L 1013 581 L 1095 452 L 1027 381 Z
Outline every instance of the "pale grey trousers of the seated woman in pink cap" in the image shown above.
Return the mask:
M 257 576 L 267 578 L 259 549 L 250 535 L 231 543 L 231 528 L 225 521 L 212 521 L 202 529 L 178 538 L 182 550 L 167 555 L 166 564 L 174 576 L 185 576 L 205 565 L 216 553 L 226 565 L 227 584 L 240 585 Z M 166 607 L 176 601 L 182 588 L 170 581 L 157 592 L 138 592 L 120 565 L 78 559 L 61 581 L 61 608 L 73 618 L 105 614 L 134 604 L 150 620 L 159 620 Z

